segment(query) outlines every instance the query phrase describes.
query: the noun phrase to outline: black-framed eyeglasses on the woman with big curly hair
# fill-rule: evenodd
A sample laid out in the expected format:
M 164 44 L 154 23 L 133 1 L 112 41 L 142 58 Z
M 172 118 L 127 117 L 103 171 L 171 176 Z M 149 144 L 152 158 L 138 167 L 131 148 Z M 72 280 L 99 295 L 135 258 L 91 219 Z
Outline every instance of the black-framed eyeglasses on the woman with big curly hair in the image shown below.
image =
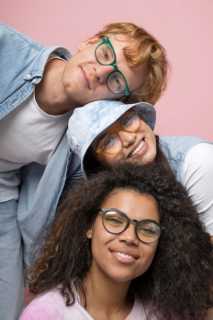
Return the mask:
M 135 234 L 137 238 L 145 243 L 153 243 L 157 241 L 165 229 L 161 224 L 150 220 L 135 220 L 129 218 L 125 213 L 119 210 L 100 209 L 102 212 L 102 222 L 106 231 L 111 234 L 117 235 L 124 232 L 129 222 L 135 222 Z

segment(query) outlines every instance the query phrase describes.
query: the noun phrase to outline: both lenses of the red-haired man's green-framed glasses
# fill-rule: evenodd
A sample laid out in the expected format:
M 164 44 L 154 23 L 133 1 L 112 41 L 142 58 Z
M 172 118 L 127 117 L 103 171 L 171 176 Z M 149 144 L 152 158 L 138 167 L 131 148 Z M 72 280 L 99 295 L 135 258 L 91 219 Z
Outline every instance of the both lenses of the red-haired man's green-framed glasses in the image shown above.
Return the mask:
M 110 65 L 115 63 L 115 55 L 108 43 L 102 43 L 96 48 L 96 59 L 100 64 Z M 114 66 L 115 67 L 115 66 Z M 113 71 L 107 77 L 107 85 L 111 92 L 115 94 L 126 90 L 126 81 L 123 74 L 119 71 Z

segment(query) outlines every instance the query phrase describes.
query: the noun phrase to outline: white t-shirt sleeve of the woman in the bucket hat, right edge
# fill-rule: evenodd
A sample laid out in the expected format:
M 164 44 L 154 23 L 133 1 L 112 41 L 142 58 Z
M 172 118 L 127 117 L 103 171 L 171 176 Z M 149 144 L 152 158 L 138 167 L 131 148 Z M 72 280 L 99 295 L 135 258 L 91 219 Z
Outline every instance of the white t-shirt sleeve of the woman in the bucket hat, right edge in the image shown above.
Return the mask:
M 200 219 L 213 236 L 213 145 L 198 143 L 186 154 L 182 170 L 183 185 L 198 205 Z

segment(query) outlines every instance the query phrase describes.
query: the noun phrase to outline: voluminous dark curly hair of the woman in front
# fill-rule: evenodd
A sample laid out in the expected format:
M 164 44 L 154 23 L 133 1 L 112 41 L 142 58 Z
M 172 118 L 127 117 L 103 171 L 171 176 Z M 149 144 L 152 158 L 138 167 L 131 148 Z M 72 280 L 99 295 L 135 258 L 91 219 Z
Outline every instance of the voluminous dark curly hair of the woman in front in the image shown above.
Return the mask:
M 204 319 L 213 307 L 213 257 L 210 235 L 196 207 L 175 176 L 158 164 L 123 163 L 90 176 L 58 208 L 35 265 L 28 270 L 30 292 L 60 288 L 66 305 L 74 303 L 70 284 L 82 280 L 92 260 L 86 232 L 113 190 L 152 196 L 165 227 L 149 269 L 130 289 L 158 319 Z M 86 296 L 85 305 L 86 305 Z

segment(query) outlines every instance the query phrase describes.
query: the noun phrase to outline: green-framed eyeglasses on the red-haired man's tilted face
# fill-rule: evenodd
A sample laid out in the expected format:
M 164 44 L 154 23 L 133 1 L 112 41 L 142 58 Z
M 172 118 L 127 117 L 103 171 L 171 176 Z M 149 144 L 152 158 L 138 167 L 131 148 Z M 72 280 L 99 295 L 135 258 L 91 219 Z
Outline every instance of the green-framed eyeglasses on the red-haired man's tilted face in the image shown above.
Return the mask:
M 115 52 L 108 37 L 103 38 L 96 50 L 94 51 L 97 61 L 102 65 L 113 65 L 112 71 L 107 77 L 108 89 L 113 94 L 125 94 L 129 96 L 129 87 L 123 73 L 117 68 Z

